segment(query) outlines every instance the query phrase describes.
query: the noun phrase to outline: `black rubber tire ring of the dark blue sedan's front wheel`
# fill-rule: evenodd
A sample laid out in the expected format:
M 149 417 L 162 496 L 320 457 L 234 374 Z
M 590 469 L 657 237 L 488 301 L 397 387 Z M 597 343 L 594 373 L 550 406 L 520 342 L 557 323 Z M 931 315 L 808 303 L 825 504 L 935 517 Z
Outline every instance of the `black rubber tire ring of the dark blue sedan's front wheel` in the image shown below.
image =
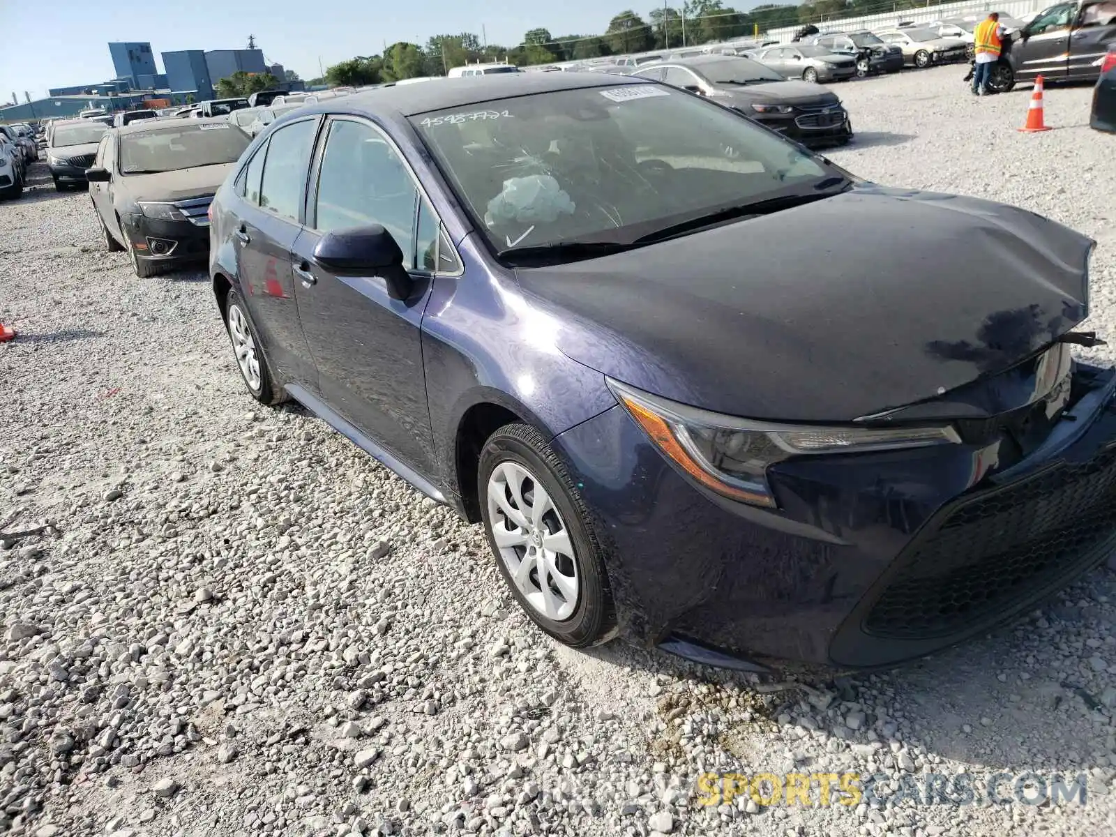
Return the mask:
M 570 536 L 579 590 L 574 613 L 561 622 L 548 618 L 529 604 L 512 580 L 492 535 L 491 512 L 487 501 L 488 483 L 492 472 L 503 463 L 519 464 L 537 477 Z M 612 638 L 616 627 L 616 609 L 600 543 L 589 523 L 590 517 L 576 483 L 543 435 L 529 424 L 507 424 L 496 431 L 481 451 L 478 490 L 484 533 L 493 558 L 511 595 L 528 617 L 555 639 L 575 648 L 585 648 Z

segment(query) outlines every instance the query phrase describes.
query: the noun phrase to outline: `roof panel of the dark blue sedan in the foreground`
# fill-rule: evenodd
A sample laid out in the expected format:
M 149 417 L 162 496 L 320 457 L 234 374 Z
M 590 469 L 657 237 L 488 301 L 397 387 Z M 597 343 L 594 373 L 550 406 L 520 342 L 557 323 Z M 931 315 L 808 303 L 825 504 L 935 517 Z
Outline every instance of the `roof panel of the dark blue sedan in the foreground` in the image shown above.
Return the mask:
M 617 87 L 626 84 L 653 84 L 645 78 L 612 76 L 604 73 L 500 73 L 492 76 L 435 78 L 421 85 L 381 87 L 375 90 L 339 96 L 306 107 L 307 113 L 328 113 L 334 108 L 373 115 L 385 110 L 414 116 L 429 110 L 468 107 L 492 99 L 532 96 L 583 87 Z

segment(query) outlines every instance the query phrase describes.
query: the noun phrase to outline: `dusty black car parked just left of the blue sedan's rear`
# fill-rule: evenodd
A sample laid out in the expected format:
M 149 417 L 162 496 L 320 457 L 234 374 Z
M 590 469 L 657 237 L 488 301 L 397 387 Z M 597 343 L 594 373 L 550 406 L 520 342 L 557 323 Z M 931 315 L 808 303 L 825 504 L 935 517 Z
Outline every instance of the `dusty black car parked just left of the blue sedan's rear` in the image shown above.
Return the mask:
M 86 177 L 109 252 L 126 249 L 141 278 L 204 259 L 210 201 L 249 142 L 223 118 L 107 132 Z

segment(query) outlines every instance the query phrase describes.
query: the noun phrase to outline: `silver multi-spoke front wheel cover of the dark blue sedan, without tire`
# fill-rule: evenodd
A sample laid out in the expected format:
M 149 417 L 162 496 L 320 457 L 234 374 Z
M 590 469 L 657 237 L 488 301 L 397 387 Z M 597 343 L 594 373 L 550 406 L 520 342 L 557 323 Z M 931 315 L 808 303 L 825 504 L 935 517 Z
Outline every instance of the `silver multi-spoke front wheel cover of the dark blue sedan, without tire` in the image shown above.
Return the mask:
M 577 558 L 566 521 L 542 483 L 518 462 L 498 464 L 488 481 L 492 539 L 527 603 L 552 622 L 570 618 L 580 599 Z

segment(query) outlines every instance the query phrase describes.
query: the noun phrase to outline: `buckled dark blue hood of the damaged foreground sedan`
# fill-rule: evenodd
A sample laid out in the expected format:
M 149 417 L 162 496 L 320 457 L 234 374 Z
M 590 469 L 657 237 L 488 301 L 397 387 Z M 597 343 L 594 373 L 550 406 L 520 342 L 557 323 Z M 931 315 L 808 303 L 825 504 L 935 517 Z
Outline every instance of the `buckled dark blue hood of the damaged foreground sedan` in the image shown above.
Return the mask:
M 517 276 L 594 369 L 729 415 L 834 422 L 1049 345 L 1085 317 L 1093 243 L 1013 206 L 862 185 Z

